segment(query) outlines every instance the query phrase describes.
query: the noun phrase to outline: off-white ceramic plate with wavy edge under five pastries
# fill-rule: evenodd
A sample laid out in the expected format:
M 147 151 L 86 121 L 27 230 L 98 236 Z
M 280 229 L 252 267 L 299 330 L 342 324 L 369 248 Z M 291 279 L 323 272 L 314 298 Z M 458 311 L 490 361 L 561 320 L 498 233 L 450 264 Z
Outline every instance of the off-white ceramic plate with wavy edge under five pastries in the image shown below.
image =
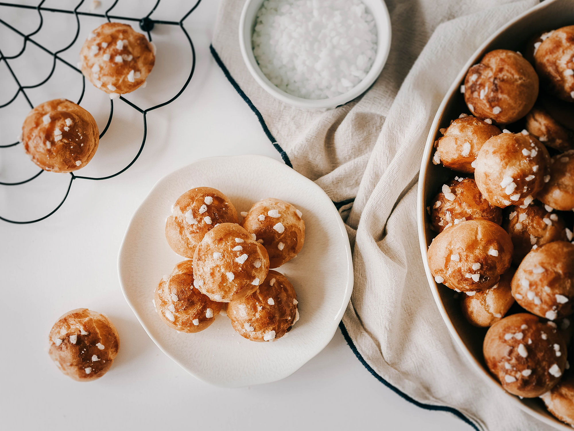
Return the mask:
M 177 333 L 154 310 L 158 282 L 185 260 L 168 246 L 165 220 L 182 193 L 202 186 L 222 191 L 238 213 L 266 197 L 303 213 L 301 253 L 277 269 L 293 284 L 301 317 L 276 342 L 248 341 L 221 315 L 205 331 Z M 313 181 L 264 156 L 206 158 L 158 181 L 127 228 L 118 273 L 127 303 L 154 343 L 196 378 L 226 387 L 274 382 L 298 370 L 332 339 L 353 286 L 351 248 L 335 205 Z

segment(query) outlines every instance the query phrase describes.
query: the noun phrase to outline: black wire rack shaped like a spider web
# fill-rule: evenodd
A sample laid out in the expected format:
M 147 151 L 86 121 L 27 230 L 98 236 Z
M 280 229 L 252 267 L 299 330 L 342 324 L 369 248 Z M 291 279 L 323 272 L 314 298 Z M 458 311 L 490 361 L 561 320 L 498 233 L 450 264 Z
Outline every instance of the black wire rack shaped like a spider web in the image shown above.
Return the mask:
M 40 87 L 43 84 L 45 84 L 46 81 L 48 81 L 52 77 L 52 75 L 56 69 L 56 61 L 60 61 L 61 63 L 63 63 L 67 67 L 69 67 L 69 68 L 75 70 L 76 72 L 82 74 L 82 71 L 79 68 L 77 68 L 75 65 L 68 63 L 68 61 L 64 60 L 62 57 L 59 56 L 60 53 L 67 51 L 67 49 L 71 48 L 71 46 L 73 44 L 75 44 L 77 37 L 80 34 L 80 16 L 82 16 L 82 15 L 87 15 L 90 17 L 104 18 L 108 22 L 111 22 L 111 20 L 138 22 L 139 28 L 148 34 L 148 39 L 150 42 L 152 41 L 152 33 L 151 32 L 152 32 L 152 30 L 156 24 L 179 26 L 181 28 L 181 31 L 185 34 L 185 37 L 187 38 L 187 40 L 189 42 L 189 46 L 191 48 L 191 53 L 192 53 L 191 71 L 189 72 L 189 76 L 187 77 L 185 84 L 183 85 L 183 87 L 181 87 L 181 89 L 177 92 L 176 95 L 174 95 L 171 99 L 167 100 L 166 102 L 157 104 L 156 106 L 152 106 L 152 107 L 147 108 L 147 109 L 142 109 L 142 108 L 138 107 L 137 105 L 135 105 L 134 103 L 130 102 L 129 100 L 123 98 L 123 96 L 120 96 L 120 98 L 119 98 L 120 100 L 127 103 L 129 106 L 131 106 L 132 108 L 134 108 L 135 110 L 137 110 L 138 112 L 140 112 L 142 114 L 143 123 L 144 123 L 144 137 L 142 139 L 142 143 L 139 146 L 139 150 L 138 150 L 137 154 L 135 154 L 135 157 L 129 162 L 129 164 L 127 164 L 127 166 L 125 166 L 125 168 L 119 170 L 118 172 L 116 172 L 114 174 L 111 174 L 111 175 L 108 175 L 105 177 L 84 177 L 84 176 L 76 175 L 73 172 L 70 172 L 69 173 L 70 180 L 68 183 L 67 191 L 64 195 L 64 199 L 62 199 L 60 201 L 60 203 L 57 205 L 57 207 L 54 208 L 51 212 L 49 212 L 45 216 L 42 216 L 41 218 L 34 219 L 34 220 L 26 220 L 26 221 L 10 220 L 10 219 L 7 219 L 1 215 L 0 215 L 0 220 L 3 220 L 5 222 L 9 222 L 9 223 L 15 223 L 15 224 L 29 224 L 29 223 L 40 222 L 41 220 L 48 218 L 53 213 L 58 211 L 58 209 L 60 209 L 60 207 L 64 204 L 64 201 L 67 199 L 67 197 L 69 195 L 69 192 L 70 192 L 70 189 L 72 188 L 72 183 L 74 180 L 94 180 L 94 181 L 108 180 L 109 178 L 113 178 L 115 176 L 118 176 L 122 172 L 125 172 L 125 170 L 129 169 L 130 166 L 133 165 L 136 160 L 138 160 L 139 155 L 142 153 L 142 150 L 144 150 L 144 146 L 145 146 L 145 142 L 146 142 L 146 136 L 148 134 L 148 125 L 147 125 L 147 121 L 146 121 L 146 115 L 148 114 L 148 112 L 156 110 L 157 108 L 161 108 L 162 106 L 165 106 L 166 104 L 172 103 L 173 100 L 177 99 L 185 91 L 185 88 L 188 86 L 189 81 L 191 81 L 191 78 L 193 76 L 193 72 L 195 71 L 195 61 L 196 61 L 195 48 L 193 47 L 193 42 L 191 40 L 191 37 L 189 37 L 187 30 L 185 30 L 184 21 L 197 8 L 197 6 L 199 6 L 199 3 L 201 2 L 201 0 L 197 0 L 196 3 L 191 7 L 191 9 L 189 9 L 189 11 L 187 11 L 187 13 L 179 21 L 154 20 L 151 17 L 151 15 L 157 9 L 157 6 L 160 5 L 161 0 L 157 0 L 157 2 L 154 4 L 152 10 L 150 10 L 149 13 L 145 17 L 142 17 L 142 18 L 122 17 L 122 16 L 118 16 L 118 15 L 111 15 L 110 13 L 114 9 L 114 7 L 117 5 L 118 1 L 119 0 L 115 0 L 114 3 L 110 7 L 108 7 L 108 9 L 103 14 L 79 11 L 78 9 L 80 8 L 80 6 L 83 5 L 85 0 L 81 0 L 79 3 L 77 3 L 77 5 L 72 10 L 55 9 L 53 7 L 44 7 L 43 5 L 46 2 L 46 0 L 41 0 L 41 2 L 38 3 L 37 6 L 22 5 L 22 4 L 18 4 L 18 3 L 0 2 L 0 7 L 7 6 L 7 7 L 19 7 L 22 9 L 35 9 L 35 10 L 37 10 L 38 15 L 40 17 L 40 24 L 38 24 L 37 28 L 35 30 L 33 30 L 33 32 L 30 32 L 28 34 L 24 34 L 24 33 L 20 32 L 20 30 L 14 28 L 10 24 L 8 24 L 6 21 L 2 20 L 2 18 L 0 18 L 0 25 L 5 26 L 6 28 L 10 29 L 12 32 L 14 32 L 14 33 L 18 34 L 19 36 L 21 36 L 22 38 L 24 38 L 24 43 L 22 44 L 22 49 L 20 50 L 20 52 L 18 52 L 17 54 L 15 54 L 13 56 L 5 56 L 2 53 L 2 50 L 0 49 L 0 62 L 2 62 L 2 61 L 5 62 L 10 75 L 13 77 L 15 83 L 18 86 L 18 90 L 15 92 L 14 96 L 8 102 L 6 102 L 4 104 L 0 104 L 0 109 L 9 106 L 12 102 L 14 102 L 14 100 L 18 97 L 18 95 L 20 93 L 24 96 L 24 98 L 26 99 L 26 102 L 28 102 L 30 109 L 32 109 L 34 107 L 34 105 L 32 104 L 32 102 L 30 102 L 30 99 L 28 98 L 28 95 L 26 94 L 26 90 L 28 90 L 29 88 Z M 42 44 L 40 44 L 39 42 L 35 41 L 32 38 L 32 36 L 34 36 L 34 34 L 36 34 L 40 31 L 40 29 L 42 28 L 42 24 L 44 24 L 44 18 L 42 17 L 42 12 L 56 12 L 56 13 L 62 13 L 62 14 L 73 14 L 76 17 L 76 33 L 75 33 L 73 40 L 67 46 L 60 49 L 59 51 L 52 52 L 49 49 L 45 48 L 45 46 L 43 46 Z M 26 46 L 28 46 L 28 43 L 36 45 L 38 48 L 42 49 L 42 51 L 45 51 L 46 53 L 48 53 L 49 55 L 51 55 L 53 57 L 52 69 L 51 69 L 49 75 L 45 79 L 41 80 L 39 83 L 29 85 L 29 86 L 22 86 L 22 84 L 18 80 L 18 77 L 15 75 L 13 69 L 10 67 L 10 61 L 9 60 L 14 60 L 14 59 L 17 59 L 18 57 L 20 57 L 26 51 Z M 82 99 L 84 98 L 84 92 L 85 91 L 86 91 L 86 77 L 84 77 L 82 75 L 82 94 L 80 94 L 80 98 L 79 98 L 79 100 L 77 100 L 77 104 L 80 104 L 80 102 L 82 102 Z M 102 131 L 102 133 L 100 133 L 100 139 L 102 139 L 102 137 L 106 134 L 108 127 L 110 127 L 110 123 L 111 123 L 111 120 L 113 118 L 113 115 L 114 115 L 114 100 L 110 99 L 110 115 L 108 117 L 106 127 L 104 127 L 104 130 Z M 20 141 L 13 142 L 13 143 L 7 143 L 7 144 L 1 144 L 0 143 L 0 150 L 3 148 L 9 148 L 9 147 L 16 146 L 20 143 L 21 143 Z M 21 184 L 29 183 L 29 181 L 32 181 L 32 180 L 35 180 L 36 178 L 38 178 L 42 172 L 44 172 L 44 170 L 40 170 L 40 172 L 34 174 L 32 177 L 30 177 L 24 181 L 18 181 L 15 183 L 5 183 L 5 182 L 0 181 L 0 185 L 13 187 L 13 186 L 18 186 Z

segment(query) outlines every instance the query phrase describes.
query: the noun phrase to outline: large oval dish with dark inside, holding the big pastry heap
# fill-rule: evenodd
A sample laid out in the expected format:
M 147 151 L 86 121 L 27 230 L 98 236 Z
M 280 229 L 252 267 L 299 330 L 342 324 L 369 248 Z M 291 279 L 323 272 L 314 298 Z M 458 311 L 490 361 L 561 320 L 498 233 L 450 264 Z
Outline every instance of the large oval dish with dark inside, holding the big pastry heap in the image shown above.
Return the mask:
M 452 170 L 444 168 L 443 165 L 433 165 L 433 145 L 437 137 L 440 137 L 439 129 L 448 127 L 451 119 L 457 118 L 461 112 L 468 112 L 464 103 L 464 97 L 460 94 L 459 87 L 463 83 L 466 72 L 471 65 L 476 64 L 483 55 L 492 49 L 513 49 L 521 50 L 530 37 L 536 32 L 557 29 L 565 25 L 572 25 L 574 17 L 574 2 L 565 1 L 545 1 L 519 15 L 513 21 L 503 26 L 498 32 L 484 42 L 482 46 L 471 56 L 452 83 L 451 88 L 445 95 L 443 102 L 435 116 L 435 120 L 430 126 L 430 132 L 426 141 L 424 156 L 422 156 L 421 170 L 418 177 L 418 198 L 417 198 L 417 219 L 418 238 L 421 246 L 422 261 L 424 262 L 426 277 L 432 290 L 435 302 L 443 320 L 447 324 L 448 330 L 456 343 L 463 351 L 464 355 L 472 366 L 480 371 L 487 384 L 497 387 L 511 399 L 515 405 L 522 410 L 536 417 L 545 424 L 554 428 L 571 430 L 568 425 L 563 424 L 546 411 L 544 404 L 538 399 L 522 399 L 507 393 L 497 380 L 488 372 L 482 354 L 482 341 L 486 333 L 484 328 L 476 328 L 464 319 L 459 300 L 453 297 L 453 291 L 444 285 L 437 285 L 435 279 L 430 274 L 428 262 L 426 261 L 426 250 L 430 241 L 436 236 L 435 232 L 429 228 L 426 207 L 429 201 L 436 195 L 440 185 L 450 180 L 454 176 Z

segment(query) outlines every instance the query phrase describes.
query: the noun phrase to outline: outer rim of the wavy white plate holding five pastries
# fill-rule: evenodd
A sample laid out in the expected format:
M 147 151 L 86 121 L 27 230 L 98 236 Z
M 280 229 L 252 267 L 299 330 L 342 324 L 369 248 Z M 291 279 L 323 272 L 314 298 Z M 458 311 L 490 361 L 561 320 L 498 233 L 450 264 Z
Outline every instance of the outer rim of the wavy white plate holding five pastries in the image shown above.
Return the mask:
M 321 189 L 319 187 L 319 185 L 315 184 L 315 182 L 309 180 L 309 178 L 298 173 L 296 170 L 289 168 L 289 166 L 286 166 L 284 163 L 277 161 L 274 158 L 267 157 L 267 156 L 261 156 L 258 154 L 244 155 L 244 156 L 218 156 L 218 157 L 201 158 L 199 160 L 192 162 L 191 164 L 189 164 L 187 166 L 183 166 L 182 168 L 176 169 L 173 172 L 166 174 L 164 177 L 160 178 L 160 180 L 158 180 L 156 182 L 156 184 L 153 185 L 152 189 L 150 189 L 149 193 L 146 195 L 144 200 L 142 200 L 141 204 L 139 204 L 138 208 L 135 210 L 135 212 L 131 216 L 130 222 L 126 228 L 126 232 L 123 236 L 122 243 L 121 243 L 121 246 L 120 246 L 119 252 L 118 252 L 118 261 L 117 261 L 118 278 L 119 278 L 119 283 L 120 283 L 120 286 L 122 289 L 123 297 L 125 298 L 127 304 L 130 306 L 132 312 L 135 314 L 135 317 L 137 317 L 139 324 L 142 326 L 142 328 L 144 328 L 144 330 L 146 331 L 146 333 L 148 334 L 150 339 L 152 339 L 152 341 L 157 345 L 158 348 L 160 348 L 160 350 L 162 352 L 164 352 L 164 354 L 166 356 L 168 356 L 170 359 L 172 359 L 173 362 L 178 364 L 181 368 L 183 368 L 189 374 L 194 376 L 196 379 L 201 380 L 202 382 L 205 382 L 205 383 L 210 383 L 211 385 L 214 385 L 214 386 L 219 386 L 219 387 L 245 387 L 245 386 L 251 386 L 251 385 L 262 385 L 265 383 L 272 383 L 272 382 L 276 382 L 278 380 L 285 379 L 288 376 L 292 375 L 297 370 L 299 370 L 299 368 L 304 366 L 304 364 L 309 362 L 309 360 L 313 359 L 316 355 L 318 355 L 321 351 L 323 351 L 324 348 L 327 347 L 327 344 L 329 344 L 331 342 L 333 336 L 335 335 L 335 332 L 337 331 L 337 328 L 339 327 L 339 322 L 343 318 L 343 314 L 347 308 L 347 304 L 351 299 L 351 293 L 352 293 L 353 285 L 354 285 L 354 272 L 353 272 L 353 266 L 352 266 L 351 247 L 350 247 L 350 243 L 347 240 L 345 242 L 346 243 L 345 256 L 347 259 L 347 269 L 346 269 L 347 280 L 346 280 L 345 287 L 344 287 L 345 290 L 344 290 L 344 296 L 342 298 L 341 308 L 339 309 L 336 316 L 333 319 L 331 319 L 331 322 L 332 322 L 331 327 L 328 330 L 325 329 L 326 335 L 324 337 L 323 343 L 320 343 L 320 344 L 317 343 L 315 345 L 315 348 L 309 349 L 309 354 L 307 356 L 305 356 L 304 360 L 302 360 L 300 363 L 297 363 L 295 366 L 292 367 L 292 369 L 290 369 L 286 372 L 283 372 L 282 374 L 280 374 L 278 376 L 272 376 L 271 378 L 268 378 L 268 379 L 261 379 L 260 381 L 249 383 L 249 385 L 225 385 L 225 384 L 220 383 L 220 382 L 210 381 L 210 379 L 208 379 L 206 376 L 197 374 L 196 372 L 194 372 L 193 370 L 188 368 L 179 359 L 174 358 L 174 356 L 172 354 L 170 354 L 168 351 L 166 351 L 164 349 L 164 347 L 162 347 L 162 342 L 157 340 L 156 337 L 154 337 L 152 335 L 150 328 L 148 328 L 148 326 L 145 323 L 144 318 L 138 312 L 137 306 L 134 304 L 133 301 L 130 300 L 130 296 L 126 292 L 125 281 L 123 280 L 123 277 L 122 277 L 122 270 L 123 270 L 123 266 L 125 265 L 125 263 L 122 262 L 122 255 L 124 253 L 124 248 L 126 247 L 126 239 L 128 238 L 130 231 L 133 228 L 134 220 L 139 215 L 139 212 L 142 211 L 142 209 L 144 208 L 144 204 L 148 201 L 148 199 L 150 199 L 152 197 L 152 195 L 154 194 L 154 192 L 156 192 L 156 190 L 161 187 L 162 183 L 164 183 L 165 181 L 168 181 L 170 179 L 170 177 L 177 176 L 177 174 L 179 174 L 180 172 L 183 172 L 183 171 L 191 168 L 192 166 L 195 166 L 197 164 L 201 164 L 201 163 L 208 161 L 208 160 L 209 161 L 217 161 L 217 160 L 237 159 L 241 162 L 242 159 L 245 160 L 246 158 L 249 158 L 249 159 L 258 158 L 262 163 L 276 164 L 277 169 L 288 169 L 288 170 L 292 171 L 291 174 L 294 174 L 294 175 L 300 177 L 305 182 L 307 182 L 307 184 L 309 185 L 310 188 L 314 188 L 317 192 L 322 194 L 325 197 L 325 199 L 327 199 L 329 201 L 329 203 L 331 203 L 331 210 L 332 210 L 333 215 L 336 216 L 335 219 L 337 220 L 337 226 L 339 228 L 339 231 L 342 235 L 344 235 L 344 238 L 347 238 L 347 235 L 348 235 L 347 230 L 344 226 L 343 220 L 341 219 L 340 214 L 337 211 L 335 205 L 332 204 L 332 201 L 331 201 L 331 199 L 329 199 L 327 193 L 325 193 L 325 191 L 323 189 Z

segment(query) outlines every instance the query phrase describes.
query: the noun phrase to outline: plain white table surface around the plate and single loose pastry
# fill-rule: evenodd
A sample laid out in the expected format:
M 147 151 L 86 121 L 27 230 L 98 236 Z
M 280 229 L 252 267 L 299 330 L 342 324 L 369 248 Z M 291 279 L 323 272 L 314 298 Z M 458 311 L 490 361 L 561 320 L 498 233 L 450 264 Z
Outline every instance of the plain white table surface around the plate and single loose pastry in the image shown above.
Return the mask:
M 63 207 L 43 222 L 23 226 L 0 222 L 0 428 L 470 429 L 449 414 L 420 409 L 383 386 L 355 358 L 340 331 L 323 352 L 280 382 L 234 390 L 207 385 L 165 356 L 126 304 L 118 282 L 118 248 L 132 213 L 159 178 L 203 157 L 264 154 L 280 160 L 255 115 L 211 57 L 218 3 L 204 0 L 186 21 L 197 51 L 196 75 L 179 99 L 150 112 L 148 141 L 135 165 L 111 180 L 81 184 L 76 180 Z M 0 9 L 0 16 L 5 10 Z M 169 17 L 169 10 L 164 15 Z M 83 28 L 81 40 L 88 31 Z M 0 49 L 6 51 L 3 41 L 0 33 Z M 161 46 L 160 40 L 160 54 Z M 162 69 L 156 68 L 148 87 L 161 87 Z M 7 79 L 0 70 L 0 83 Z M 109 102 L 89 83 L 86 92 L 82 104 L 96 111 L 101 130 Z M 36 92 L 33 103 L 46 98 Z M 0 103 L 5 100 L 7 95 L 0 90 Z M 115 104 L 118 114 L 122 104 Z M 14 111 L 0 110 L 1 143 L 17 135 L 9 123 L 21 123 L 22 114 Z M 100 167 L 102 173 L 113 172 L 106 170 L 108 161 L 113 165 L 115 157 L 121 158 L 121 165 L 129 160 L 122 158 L 124 152 L 137 152 L 141 118 L 130 115 L 125 114 L 125 123 L 113 123 L 102 139 L 100 159 L 92 161 L 96 172 Z M 17 151 L 21 149 L 10 154 Z M 11 172 L 11 162 L 1 152 L 0 178 L 22 178 Z M 26 162 L 26 172 L 34 172 Z M 37 181 L 44 179 L 40 176 Z M 6 191 L 0 186 L 0 215 L 8 212 L 25 218 L 25 210 L 40 214 L 46 192 L 38 184 L 39 190 Z M 54 206 L 55 200 L 51 202 L 46 208 Z M 65 377 L 46 353 L 52 324 L 78 307 L 106 313 L 121 339 L 111 370 L 91 383 Z

